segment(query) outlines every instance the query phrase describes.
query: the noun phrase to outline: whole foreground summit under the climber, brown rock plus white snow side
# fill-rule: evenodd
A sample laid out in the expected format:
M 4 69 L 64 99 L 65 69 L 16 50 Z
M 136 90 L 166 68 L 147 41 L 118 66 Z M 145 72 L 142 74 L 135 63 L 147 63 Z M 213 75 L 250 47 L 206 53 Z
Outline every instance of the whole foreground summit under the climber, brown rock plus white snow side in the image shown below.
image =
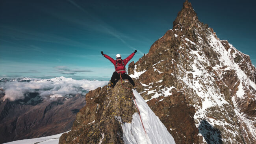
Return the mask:
M 72 130 L 59 144 L 175 144 L 160 119 L 129 82 L 90 91 Z

